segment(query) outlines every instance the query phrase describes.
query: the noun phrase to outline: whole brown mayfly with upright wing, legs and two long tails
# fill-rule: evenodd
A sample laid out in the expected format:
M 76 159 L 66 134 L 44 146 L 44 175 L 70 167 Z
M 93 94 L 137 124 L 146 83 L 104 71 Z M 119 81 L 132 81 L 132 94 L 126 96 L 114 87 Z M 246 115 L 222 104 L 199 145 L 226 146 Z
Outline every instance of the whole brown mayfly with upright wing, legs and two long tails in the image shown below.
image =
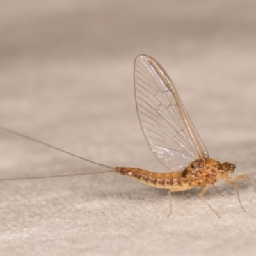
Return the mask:
M 170 214 L 172 212 L 171 194 L 177 191 L 186 191 L 191 188 L 202 188 L 200 198 L 220 218 L 218 213 L 205 200 L 204 194 L 210 185 L 222 179 L 234 186 L 241 208 L 244 210 L 239 197 L 237 184 L 234 180 L 248 179 L 256 191 L 256 187 L 248 175 L 228 176 L 234 173 L 236 164 L 209 158 L 207 148 L 196 132 L 186 109 L 172 80 L 164 68 L 154 58 L 139 55 L 134 61 L 134 88 L 136 108 L 141 129 L 147 140 L 148 146 L 156 158 L 170 172 L 150 172 L 140 168 L 111 167 L 100 164 L 83 157 L 76 156 L 60 148 L 36 140 L 19 132 L 0 127 L 3 131 L 11 132 L 23 138 L 36 141 L 66 154 L 79 157 L 110 170 L 103 172 L 116 172 L 132 177 L 144 184 L 155 188 L 169 189 Z M 94 172 L 94 173 L 103 173 Z M 47 177 L 63 177 L 72 175 L 86 175 L 92 173 L 79 173 L 70 175 L 54 175 Z M 46 177 L 30 177 L 17 179 L 38 179 Z M 14 180 L 1 179 L 1 180 Z M 245 210 L 244 210 L 245 211 Z M 170 215 L 169 214 L 169 215 Z

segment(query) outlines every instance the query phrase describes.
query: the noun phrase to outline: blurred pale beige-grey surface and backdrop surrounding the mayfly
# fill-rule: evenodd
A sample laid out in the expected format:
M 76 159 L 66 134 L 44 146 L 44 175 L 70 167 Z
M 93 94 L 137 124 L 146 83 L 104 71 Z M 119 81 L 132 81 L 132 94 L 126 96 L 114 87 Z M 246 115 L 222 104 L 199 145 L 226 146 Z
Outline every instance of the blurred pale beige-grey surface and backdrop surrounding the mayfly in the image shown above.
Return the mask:
M 0 125 L 111 166 L 163 170 L 136 115 L 133 61 L 172 77 L 210 156 L 256 182 L 255 1 L 0 1 Z M 0 173 L 104 170 L 0 132 Z M 206 198 L 116 173 L 0 183 L 0 255 L 255 255 L 256 194 Z

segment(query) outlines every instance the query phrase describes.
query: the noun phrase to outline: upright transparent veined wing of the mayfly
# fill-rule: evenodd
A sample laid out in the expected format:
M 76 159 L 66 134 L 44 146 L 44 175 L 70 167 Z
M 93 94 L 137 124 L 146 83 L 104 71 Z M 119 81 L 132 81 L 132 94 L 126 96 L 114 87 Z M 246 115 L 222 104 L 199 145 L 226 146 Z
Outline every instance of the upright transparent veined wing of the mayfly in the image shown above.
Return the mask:
M 147 55 L 134 61 L 136 108 L 153 154 L 172 171 L 208 157 L 186 109 L 163 67 Z

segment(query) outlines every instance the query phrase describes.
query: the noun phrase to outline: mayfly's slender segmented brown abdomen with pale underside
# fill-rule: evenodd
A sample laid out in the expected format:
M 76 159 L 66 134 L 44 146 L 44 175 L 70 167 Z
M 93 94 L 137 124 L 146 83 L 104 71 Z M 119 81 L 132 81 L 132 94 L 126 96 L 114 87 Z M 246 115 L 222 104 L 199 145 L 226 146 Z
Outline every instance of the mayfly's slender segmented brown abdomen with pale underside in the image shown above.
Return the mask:
M 181 177 L 181 172 L 150 172 L 140 168 L 126 168 L 116 167 L 116 172 L 132 177 L 140 181 L 141 183 L 147 184 L 155 188 L 165 188 L 171 191 L 182 191 L 190 188 L 188 182 L 184 182 Z

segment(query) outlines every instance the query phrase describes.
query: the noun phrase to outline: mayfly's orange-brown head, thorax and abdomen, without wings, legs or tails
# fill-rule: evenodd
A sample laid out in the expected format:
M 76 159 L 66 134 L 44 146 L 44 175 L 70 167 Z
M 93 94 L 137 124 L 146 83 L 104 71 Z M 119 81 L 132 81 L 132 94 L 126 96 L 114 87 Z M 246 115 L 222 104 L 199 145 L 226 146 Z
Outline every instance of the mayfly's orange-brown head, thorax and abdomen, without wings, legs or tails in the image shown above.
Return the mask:
M 132 177 L 143 184 L 155 188 L 170 189 L 170 192 L 185 191 L 196 187 L 207 187 L 223 177 L 228 172 L 234 172 L 234 164 L 229 164 L 228 170 L 223 170 L 219 161 L 211 158 L 198 159 L 179 172 L 150 172 L 140 168 L 116 167 L 121 175 Z

